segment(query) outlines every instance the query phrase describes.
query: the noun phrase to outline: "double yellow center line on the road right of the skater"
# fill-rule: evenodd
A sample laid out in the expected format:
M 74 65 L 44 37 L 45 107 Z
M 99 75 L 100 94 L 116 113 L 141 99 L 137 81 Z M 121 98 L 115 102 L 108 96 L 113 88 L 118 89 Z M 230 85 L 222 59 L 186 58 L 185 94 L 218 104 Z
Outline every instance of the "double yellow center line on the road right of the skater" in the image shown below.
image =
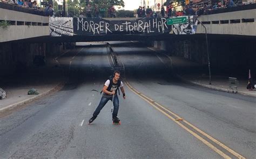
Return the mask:
M 188 127 L 186 127 L 185 125 L 181 124 L 180 121 L 177 121 L 176 119 L 174 119 L 171 115 L 169 115 L 168 113 L 166 113 L 165 111 L 169 112 L 170 114 L 172 114 L 174 117 L 178 118 L 178 119 L 183 119 L 181 117 L 179 117 L 179 115 L 177 115 L 176 113 L 171 112 L 170 110 L 166 109 L 164 106 L 158 104 L 157 102 L 154 102 L 153 99 L 143 95 L 142 93 L 138 92 L 136 89 L 134 89 L 128 82 L 125 81 L 125 84 L 127 85 L 127 87 L 134 93 L 136 93 L 140 98 L 144 99 L 147 103 L 149 103 L 150 105 L 152 105 L 155 109 L 157 109 L 158 111 L 160 111 L 161 113 L 165 114 L 168 118 L 170 118 L 171 120 L 173 120 L 174 122 L 176 122 L 176 124 L 178 124 L 179 126 L 181 126 L 182 128 L 184 128 L 187 132 L 189 132 L 190 134 L 192 134 L 193 136 L 195 136 L 198 140 L 200 140 L 201 142 L 203 142 L 204 144 L 206 144 L 208 147 L 210 147 L 212 150 L 214 150 L 216 153 L 218 153 L 219 155 L 221 155 L 223 158 L 231 158 L 230 156 L 226 155 L 225 153 L 223 153 L 223 151 L 221 151 L 220 149 L 218 149 L 217 147 L 213 146 L 213 144 L 211 144 L 210 142 L 206 141 L 204 138 L 202 138 L 201 136 L 199 136 L 197 133 L 194 133 L 193 131 L 191 131 L 191 129 L 189 129 Z M 160 108 L 161 109 L 160 109 Z M 163 109 L 163 110 L 162 110 Z M 164 111 L 165 110 L 165 111 Z M 196 126 L 192 125 L 190 122 L 186 121 L 186 120 L 182 120 L 183 122 L 185 122 L 187 125 L 191 126 L 193 129 L 195 129 L 197 132 L 201 133 L 202 135 L 206 136 L 206 138 L 210 139 L 211 141 L 213 141 L 214 143 L 218 144 L 220 147 L 224 148 L 225 150 L 227 150 L 228 152 L 230 152 L 232 155 L 238 157 L 238 158 L 245 158 L 243 156 L 241 156 L 240 154 L 236 153 L 234 150 L 228 148 L 227 146 L 225 146 L 223 143 L 219 142 L 218 140 L 214 139 L 212 136 L 206 134 L 205 132 L 201 131 L 199 128 L 197 128 Z

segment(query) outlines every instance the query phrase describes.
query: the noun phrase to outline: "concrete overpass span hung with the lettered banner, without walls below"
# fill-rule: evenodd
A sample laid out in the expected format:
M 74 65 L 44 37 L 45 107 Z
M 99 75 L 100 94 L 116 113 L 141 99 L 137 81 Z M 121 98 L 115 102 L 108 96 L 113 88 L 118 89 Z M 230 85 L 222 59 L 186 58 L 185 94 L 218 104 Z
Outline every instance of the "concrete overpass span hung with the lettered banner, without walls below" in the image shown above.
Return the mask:
M 219 13 L 218 13 L 219 12 Z M 243 36 L 246 38 L 255 38 L 256 37 L 256 4 L 239 6 L 239 10 L 231 10 L 230 12 L 220 12 L 218 11 L 215 14 L 211 15 L 203 15 L 199 16 L 198 19 L 205 25 L 207 33 L 212 34 L 212 37 L 221 38 L 226 36 Z M 187 17 L 187 19 L 192 19 L 194 17 Z M 54 19 L 54 18 L 53 18 Z M 69 18 L 71 20 L 80 20 L 82 23 L 82 18 Z M 86 18 L 83 18 L 86 21 Z M 152 26 L 143 26 L 144 30 L 142 32 L 131 32 L 131 31 L 123 31 L 125 27 L 119 25 L 120 23 L 125 23 L 125 21 L 130 21 L 131 23 L 138 22 L 138 18 L 104 18 L 103 21 L 112 21 L 114 22 L 113 26 L 118 25 L 119 32 L 114 33 L 98 33 L 102 26 L 102 22 L 99 19 L 90 19 L 90 21 L 94 21 L 92 23 L 99 24 L 96 26 L 96 33 L 78 33 L 75 31 L 72 36 L 61 36 L 57 37 L 50 36 L 50 29 L 54 27 L 53 23 L 51 23 L 51 18 L 46 16 L 44 12 L 38 12 L 30 9 L 21 8 L 17 5 L 8 4 L 4 2 L 0 2 L 0 21 L 2 21 L 2 26 L 0 27 L 0 42 L 8 42 L 8 41 L 30 41 L 30 42 L 76 42 L 76 41 L 126 41 L 126 40 L 170 40 L 170 39 L 193 39 L 195 37 L 203 37 L 205 33 L 205 29 L 203 25 L 196 23 L 194 20 L 188 20 L 187 24 L 184 25 L 173 25 L 167 26 L 163 24 L 165 21 L 160 19 L 161 25 L 159 28 L 159 32 L 152 33 Z M 152 19 L 144 19 L 147 20 L 148 24 L 153 25 Z M 151 22 L 149 21 L 151 20 Z M 166 20 L 166 19 L 164 19 Z M 6 25 L 4 22 L 7 22 Z M 135 22 L 134 22 L 135 21 Z M 85 22 L 83 22 L 85 23 Z M 119 23 L 119 24 L 118 24 Z M 158 23 L 158 22 L 157 22 Z M 75 24 L 75 23 L 74 23 Z M 92 28 L 90 26 L 90 22 L 88 23 L 89 29 Z M 5 26 L 4 26 L 5 25 Z M 138 25 L 138 24 L 137 24 Z M 190 25 L 190 26 L 188 26 Z M 95 26 L 94 26 L 95 27 Z M 97 28 L 98 27 L 98 28 Z M 104 26 L 106 27 L 106 26 Z M 136 30 L 136 25 L 132 26 L 133 30 Z M 138 26 L 137 26 L 138 27 Z M 190 27 L 193 29 L 193 34 L 191 31 L 188 31 L 187 28 Z M 81 28 L 81 27 L 80 27 Z M 164 33 L 161 32 L 164 28 Z M 55 28 L 55 34 L 71 33 L 72 32 L 72 23 L 69 26 L 63 27 L 63 24 L 60 28 Z M 127 28 L 128 30 L 131 28 Z M 145 31 L 146 30 L 146 31 Z M 105 32 L 105 30 L 104 30 Z M 145 33 L 146 32 L 146 33 Z M 149 33 L 147 33 L 149 32 Z M 64 33 L 64 34 L 65 34 Z M 66 34 L 66 35 L 68 35 Z M 180 34 L 183 34 L 182 36 Z

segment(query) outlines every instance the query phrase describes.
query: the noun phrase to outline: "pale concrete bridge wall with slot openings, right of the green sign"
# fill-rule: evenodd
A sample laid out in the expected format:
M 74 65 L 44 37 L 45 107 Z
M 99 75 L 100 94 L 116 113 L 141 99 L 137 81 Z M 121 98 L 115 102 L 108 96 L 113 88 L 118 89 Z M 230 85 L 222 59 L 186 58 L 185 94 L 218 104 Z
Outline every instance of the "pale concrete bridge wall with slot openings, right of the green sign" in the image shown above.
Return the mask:
M 256 9 L 205 15 L 198 19 L 204 23 L 208 34 L 256 36 Z M 205 33 L 204 27 L 199 24 L 196 33 Z

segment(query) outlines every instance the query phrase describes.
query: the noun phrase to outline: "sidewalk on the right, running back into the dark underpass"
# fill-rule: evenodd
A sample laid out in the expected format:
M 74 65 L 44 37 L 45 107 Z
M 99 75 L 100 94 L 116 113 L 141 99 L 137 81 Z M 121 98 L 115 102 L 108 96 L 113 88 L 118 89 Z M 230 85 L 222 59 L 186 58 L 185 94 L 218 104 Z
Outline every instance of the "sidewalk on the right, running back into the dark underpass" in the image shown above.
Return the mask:
M 166 55 L 166 52 L 163 50 L 159 50 L 152 47 L 150 47 L 149 49 Z M 180 78 L 182 81 L 204 86 L 206 88 L 228 92 L 228 76 L 213 74 L 211 77 L 211 84 L 209 84 L 208 71 L 205 70 L 201 64 L 191 62 L 190 60 L 187 60 L 184 57 L 169 56 L 169 58 L 172 61 L 172 69 L 174 74 L 176 74 L 176 76 Z M 235 78 L 237 78 L 239 81 L 239 94 L 256 97 L 256 89 L 254 89 L 253 91 L 249 91 L 246 89 L 248 82 L 248 79 L 246 77 Z

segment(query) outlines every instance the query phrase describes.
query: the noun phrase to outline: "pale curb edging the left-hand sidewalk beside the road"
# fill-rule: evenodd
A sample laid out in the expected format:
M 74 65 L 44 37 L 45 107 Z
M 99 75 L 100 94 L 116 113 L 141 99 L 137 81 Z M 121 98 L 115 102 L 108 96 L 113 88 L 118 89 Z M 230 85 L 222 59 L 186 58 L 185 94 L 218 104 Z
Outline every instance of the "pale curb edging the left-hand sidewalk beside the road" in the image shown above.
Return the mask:
M 17 107 L 17 106 L 20 106 L 20 105 L 23 105 L 23 104 L 32 102 L 33 100 L 39 99 L 39 98 L 41 98 L 41 97 L 43 97 L 43 96 L 46 96 L 46 95 L 48 95 L 49 93 L 51 93 L 52 91 L 57 90 L 57 88 L 58 88 L 59 86 L 60 86 L 61 88 L 63 88 L 64 84 L 65 84 L 65 82 L 60 82 L 59 84 L 57 84 L 57 85 L 56 85 L 55 87 L 53 87 L 52 89 L 50 89 L 50 90 L 48 90 L 48 91 L 46 91 L 46 92 L 44 92 L 44 93 L 42 93 L 42 94 L 39 94 L 38 96 L 34 96 L 34 97 L 29 98 L 29 99 L 22 100 L 21 102 L 17 102 L 17 103 L 15 103 L 15 104 L 11 104 L 11 105 L 5 106 L 5 107 L 3 107 L 3 108 L 0 109 L 0 112 L 4 112 L 4 111 L 6 111 L 6 110 L 14 109 L 14 108 Z M 60 88 L 60 89 L 61 89 L 61 88 Z M 60 89 L 59 89 L 59 90 L 60 90 Z

